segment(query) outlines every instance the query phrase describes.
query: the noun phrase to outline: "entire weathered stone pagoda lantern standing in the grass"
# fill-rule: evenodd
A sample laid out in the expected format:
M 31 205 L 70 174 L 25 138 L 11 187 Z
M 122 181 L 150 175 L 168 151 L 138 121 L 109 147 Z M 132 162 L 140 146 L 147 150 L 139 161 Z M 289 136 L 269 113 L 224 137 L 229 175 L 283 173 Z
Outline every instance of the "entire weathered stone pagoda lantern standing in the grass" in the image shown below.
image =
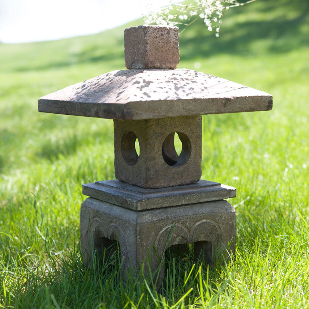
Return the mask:
M 173 245 L 193 243 L 197 257 L 235 251 L 236 189 L 200 180 L 202 117 L 264 111 L 272 96 L 179 62 L 177 27 L 125 29 L 125 66 L 39 99 L 40 112 L 114 121 L 115 180 L 83 185 L 80 235 L 84 265 L 120 249 L 122 276 L 150 263 L 153 273 Z M 175 150 L 174 136 L 182 143 Z M 139 142 L 139 155 L 135 149 Z M 145 269 L 148 269 L 146 266 Z M 164 275 L 164 264 L 159 277 Z

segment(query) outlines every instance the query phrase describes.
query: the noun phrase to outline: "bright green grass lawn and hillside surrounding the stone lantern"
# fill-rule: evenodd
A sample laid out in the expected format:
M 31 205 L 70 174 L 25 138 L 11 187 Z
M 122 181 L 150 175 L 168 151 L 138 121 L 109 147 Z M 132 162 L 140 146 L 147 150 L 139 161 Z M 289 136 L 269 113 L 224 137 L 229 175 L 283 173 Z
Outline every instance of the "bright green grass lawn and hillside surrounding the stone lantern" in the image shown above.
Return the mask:
M 194 23 L 179 67 L 269 92 L 273 110 L 203 117 L 203 179 L 235 186 L 232 265 L 171 256 L 158 294 L 119 257 L 85 269 L 83 183 L 114 178 L 112 121 L 37 112 L 37 99 L 124 69 L 123 28 L 0 44 L 0 306 L 14 308 L 309 307 L 309 4 L 259 0 L 226 12 L 220 38 Z M 140 21 L 130 24 L 137 25 Z

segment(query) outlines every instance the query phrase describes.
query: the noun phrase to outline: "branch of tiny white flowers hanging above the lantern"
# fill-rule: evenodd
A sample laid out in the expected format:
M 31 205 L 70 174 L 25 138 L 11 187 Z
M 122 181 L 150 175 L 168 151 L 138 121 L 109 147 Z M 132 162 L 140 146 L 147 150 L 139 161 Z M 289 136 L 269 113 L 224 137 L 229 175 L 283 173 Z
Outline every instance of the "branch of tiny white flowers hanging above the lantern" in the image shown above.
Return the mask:
M 204 20 L 209 31 L 212 31 L 216 25 L 216 36 L 218 37 L 225 10 L 233 6 L 243 6 L 256 0 L 249 0 L 244 3 L 239 3 L 237 0 L 193 0 L 195 3 L 189 5 L 181 3 L 182 1 L 179 0 L 169 1 L 169 5 L 163 6 L 157 11 L 149 8 L 149 11 L 152 13 L 146 15 L 144 18 L 145 24 L 157 24 L 161 26 L 182 24 L 187 28 L 198 19 L 198 17 L 194 17 L 198 15 Z M 173 14 L 172 11 L 175 10 L 176 13 Z M 190 22 L 191 19 L 193 21 Z M 186 21 L 189 23 L 186 23 Z

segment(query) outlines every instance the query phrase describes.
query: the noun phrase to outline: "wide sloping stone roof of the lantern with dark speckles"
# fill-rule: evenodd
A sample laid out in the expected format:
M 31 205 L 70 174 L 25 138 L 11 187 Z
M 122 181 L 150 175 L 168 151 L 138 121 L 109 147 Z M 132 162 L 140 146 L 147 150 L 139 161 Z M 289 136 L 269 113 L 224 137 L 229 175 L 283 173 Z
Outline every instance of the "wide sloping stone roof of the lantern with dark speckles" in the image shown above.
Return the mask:
M 39 99 L 39 112 L 138 120 L 270 110 L 263 91 L 187 69 L 117 70 Z

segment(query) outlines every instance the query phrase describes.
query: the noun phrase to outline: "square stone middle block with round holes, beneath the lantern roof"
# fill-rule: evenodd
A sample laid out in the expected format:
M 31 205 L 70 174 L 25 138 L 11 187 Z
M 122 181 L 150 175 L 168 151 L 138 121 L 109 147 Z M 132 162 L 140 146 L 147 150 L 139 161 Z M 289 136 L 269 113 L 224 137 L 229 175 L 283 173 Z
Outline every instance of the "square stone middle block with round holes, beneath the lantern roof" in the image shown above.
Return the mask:
M 178 157 L 177 132 L 182 142 Z M 134 142 L 138 138 L 139 157 Z M 201 116 L 114 120 L 115 176 L 143 188 L 193 184 L 201 178 Z

